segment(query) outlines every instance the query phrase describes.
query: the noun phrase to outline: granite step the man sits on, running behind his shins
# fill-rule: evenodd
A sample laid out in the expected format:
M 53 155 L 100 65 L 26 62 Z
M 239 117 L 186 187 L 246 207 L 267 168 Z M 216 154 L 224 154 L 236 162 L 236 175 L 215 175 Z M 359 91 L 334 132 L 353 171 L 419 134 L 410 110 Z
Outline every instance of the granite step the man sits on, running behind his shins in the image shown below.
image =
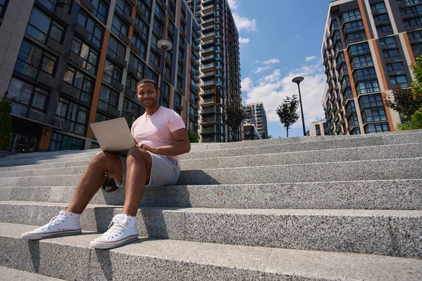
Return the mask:
M 0 201 L 68 203 L 75 186 L 4 187 Z M 124 188 L 92 204 L 122 205 Z M 227 209 L 422 209 L 422 180 L 333 181 L 145 188 L 142 207 Z

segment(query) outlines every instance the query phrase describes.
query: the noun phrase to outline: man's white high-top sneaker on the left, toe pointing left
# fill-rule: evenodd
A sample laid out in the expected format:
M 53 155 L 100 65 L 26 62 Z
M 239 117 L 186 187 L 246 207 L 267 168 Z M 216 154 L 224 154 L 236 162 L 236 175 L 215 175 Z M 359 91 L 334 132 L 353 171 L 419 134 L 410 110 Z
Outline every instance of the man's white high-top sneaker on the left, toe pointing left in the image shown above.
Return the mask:
M 20 235 L 20 239 L 39 240 L 56 236 L 79 234 L 82 232 L 80 217 L 80 214 L 73 214 L 71 212 L 65 214 L 65 211 L 60 211 L 58 216 L 51 218 L 51 221 L 45 226 L 23 233 Z

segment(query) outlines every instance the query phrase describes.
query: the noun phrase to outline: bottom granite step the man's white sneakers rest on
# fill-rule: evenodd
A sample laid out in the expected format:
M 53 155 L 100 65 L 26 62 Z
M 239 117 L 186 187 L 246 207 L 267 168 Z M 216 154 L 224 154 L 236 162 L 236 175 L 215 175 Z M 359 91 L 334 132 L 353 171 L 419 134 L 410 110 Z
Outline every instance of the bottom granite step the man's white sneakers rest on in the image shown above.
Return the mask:
M 1 266 L 66 280 L 422 279 L 421 259 L 146 237 L 104 251 L 89 248 L 98 234 L 87 232 L 32 242 L 18 238 L 33 228 L 0 223 Z

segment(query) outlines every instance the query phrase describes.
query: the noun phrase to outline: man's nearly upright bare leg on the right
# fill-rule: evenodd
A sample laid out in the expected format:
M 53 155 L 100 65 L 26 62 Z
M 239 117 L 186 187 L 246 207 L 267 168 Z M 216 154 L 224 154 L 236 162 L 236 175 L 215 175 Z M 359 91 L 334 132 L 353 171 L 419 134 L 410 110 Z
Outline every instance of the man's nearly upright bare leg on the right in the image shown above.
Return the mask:
M 143 188 L 151 176 L 152 157 L 150 152 L 140 148 L 132 148 L 127 153 L 127 173 L 124 195 L 123 214 L 136 216 Z

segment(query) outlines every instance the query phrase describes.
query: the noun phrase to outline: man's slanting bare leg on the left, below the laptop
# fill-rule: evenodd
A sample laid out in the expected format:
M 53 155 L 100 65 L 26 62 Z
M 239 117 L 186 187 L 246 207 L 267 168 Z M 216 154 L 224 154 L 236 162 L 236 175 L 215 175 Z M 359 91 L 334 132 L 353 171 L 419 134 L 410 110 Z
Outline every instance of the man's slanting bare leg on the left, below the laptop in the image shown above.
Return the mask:
M 72 201 L 66 210 L 74 214 L 82 214 L 89 201 L 101 188 L 104 181 L 104 174 L 111 174 L 118 181 L 123 179 L 123 167 L 120 157 L 108 152 L 98 152 L 89 162 L 87 170 L 80 179 Z

